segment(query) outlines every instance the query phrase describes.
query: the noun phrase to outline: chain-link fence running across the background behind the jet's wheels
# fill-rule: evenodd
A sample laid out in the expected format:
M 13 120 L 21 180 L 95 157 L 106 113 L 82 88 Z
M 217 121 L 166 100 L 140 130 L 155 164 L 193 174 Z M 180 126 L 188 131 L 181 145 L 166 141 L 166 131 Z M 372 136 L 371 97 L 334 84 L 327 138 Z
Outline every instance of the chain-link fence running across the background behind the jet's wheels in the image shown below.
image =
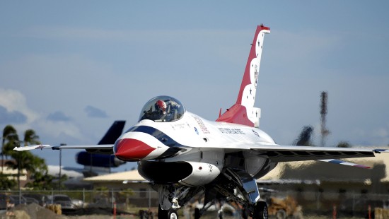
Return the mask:
M 327 218 L 366 218 L 373 215 L 375 208 L 389 207 L 389 194 L 353 194 L 347 192 L 325 193 L 309 191 L 262 192 L 262 199 L 267 201 L 269 215 L 293 217 L 300 215 L 324 215 Z M 191 218 L 194 208 L 202 206 L 204 196 L 195 196 L 180 214 Z M 35 203 L 40 206 L 61 205 L 64 214 L 117 214 L 138 216 L 141 213 L 158 211 L 158 194 L 152 189 L 141 191 L 127 190 L 62 190 L 62 191 L 0 191 L 0 208 L 10 209 L 14 206 Z M 226 207 L 226 205 L 228 207 Z M 215 201 L 210 211 L 222 209 L 232 218 L 241 218 L 239 205 L 228 201 Z M 188 211 L 185 212 L 185 211 Z M 281 217 L 281 218 L 282 218 Z M 156 218 L 156 217 L 154 217 Z M 280 218 L 280 217 L 279 217 Z M 300 218 L 302 218 L 300 216 Z M 372 217 L 373 218 L 373 217 Z

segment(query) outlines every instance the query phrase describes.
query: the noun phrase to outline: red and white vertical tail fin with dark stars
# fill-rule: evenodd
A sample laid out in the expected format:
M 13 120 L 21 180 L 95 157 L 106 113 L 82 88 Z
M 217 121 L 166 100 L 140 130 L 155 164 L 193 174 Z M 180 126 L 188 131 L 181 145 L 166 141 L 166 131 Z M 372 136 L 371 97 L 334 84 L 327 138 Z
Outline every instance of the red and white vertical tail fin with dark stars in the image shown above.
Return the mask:
M 259 126 L 260 109 L 254 107 L 254 102 L 257 93 L 263 40 L 265 33 L 269 32 L 270 28 L 264 25 L 257 26 L 236 104 L 224 112 L 216 121 Z

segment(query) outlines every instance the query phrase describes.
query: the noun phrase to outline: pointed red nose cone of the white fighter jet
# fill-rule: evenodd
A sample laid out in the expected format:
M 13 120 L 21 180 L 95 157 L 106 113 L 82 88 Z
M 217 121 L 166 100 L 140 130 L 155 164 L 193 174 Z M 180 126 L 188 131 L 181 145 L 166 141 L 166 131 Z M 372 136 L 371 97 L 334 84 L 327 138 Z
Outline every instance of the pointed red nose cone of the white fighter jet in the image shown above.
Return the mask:
M 141 160 L 149 155 L 153 150 L 156 150 L 156 148 L 133 138 L 123 138 L 115 143 L 115 156 L 120 160 Z

